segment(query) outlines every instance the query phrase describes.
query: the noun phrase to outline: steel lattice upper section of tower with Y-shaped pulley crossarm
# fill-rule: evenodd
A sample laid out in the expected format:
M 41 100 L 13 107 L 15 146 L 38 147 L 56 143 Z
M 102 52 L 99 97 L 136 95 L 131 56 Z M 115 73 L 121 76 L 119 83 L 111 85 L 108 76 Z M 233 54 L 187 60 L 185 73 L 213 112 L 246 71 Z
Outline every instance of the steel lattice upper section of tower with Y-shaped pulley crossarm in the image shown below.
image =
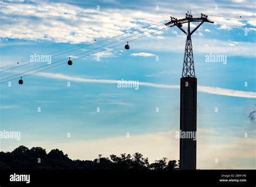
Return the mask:
M 191 22 L 200 22 L 193 31 L 190 31 L 190 23 Z M 208 19 L 208 16 L 203 15 L 201 13 L 201 17 L 193 18 L 191 13 L 186 13 L 186 17 L 183 19 L 176 19 L 171 17 L 171 20 L 166 23 L 166 26 L 177 26 L 183 33 L 187 35 L 186 45 L 185 45 L 185 53 L 184 53 L 184 60 L 183 60 L 183 69 L 182 69 L 182 76 L 181 77 L 196 77 L 194 71 L 194 59 L 193 59 L 193 49 L 192 49 L 192 41 L 191 35 L 204 23 L 213 23 L 213 21 Z M 187 23 L 187 31 L 185 31 L 182 27 L 184 23 Z

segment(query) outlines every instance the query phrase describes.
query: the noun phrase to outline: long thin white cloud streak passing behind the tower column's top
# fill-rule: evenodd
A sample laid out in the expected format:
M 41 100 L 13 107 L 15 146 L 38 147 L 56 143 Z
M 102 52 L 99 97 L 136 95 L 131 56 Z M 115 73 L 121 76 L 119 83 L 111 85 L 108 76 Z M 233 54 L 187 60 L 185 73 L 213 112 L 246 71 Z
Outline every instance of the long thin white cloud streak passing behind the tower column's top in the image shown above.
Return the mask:
M 55 78 L 59 80 L 69 80 L 69 81 L 86 82 L 86 83 L 106 83 L 106 84 L 118 83 L 118 80 L 89 79 L 89 78 L 71 77 L 71 76 L 66 76 L 62 74 L 53 74 L 53 73 L 41 72 L 34 75 L 47 77 L 47 78 Z M 158 83 L 149 83 L 149 82 L 139 82 L 139 86 L 154 87 L 154 88 L 175 88 L 175 89 L 180 88 L 179 85 L 158 84 Z M 204 92 L 204 93 L 211 93 L 215 95 L 256 98 L 256 92 L 239 91 L 239 90 L 232 90 L 232 89 L 225 89 L 225 88 L 218 88 L 218 87 L 206 87 L 206 86 L 198 85 L 198 91 Z

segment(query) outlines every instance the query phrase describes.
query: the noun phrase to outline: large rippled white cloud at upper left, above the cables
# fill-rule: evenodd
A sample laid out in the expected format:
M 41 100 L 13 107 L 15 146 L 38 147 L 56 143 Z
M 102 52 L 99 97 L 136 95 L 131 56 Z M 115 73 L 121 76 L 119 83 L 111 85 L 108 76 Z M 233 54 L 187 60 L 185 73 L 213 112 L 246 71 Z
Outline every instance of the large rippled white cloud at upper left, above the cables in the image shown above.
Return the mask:
M 113 37 L 124 34 L 131 28 L 137 29 L 166 19 L 165 16 L 136 10 L 98 11 L 53 2 L 35 4 L 3 2 L 3 7 L 0 9 L 3 14 L 1 23 L 5 26 L 1 28 L 1 38 L 71 42 L 72 44 Z

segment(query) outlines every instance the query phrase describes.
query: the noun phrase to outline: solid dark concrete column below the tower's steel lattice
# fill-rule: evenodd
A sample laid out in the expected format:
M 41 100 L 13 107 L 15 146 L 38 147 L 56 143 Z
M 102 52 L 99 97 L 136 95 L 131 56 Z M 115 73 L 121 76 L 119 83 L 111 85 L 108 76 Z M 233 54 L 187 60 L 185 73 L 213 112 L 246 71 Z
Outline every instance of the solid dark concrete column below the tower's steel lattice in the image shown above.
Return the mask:
M 196 169 L 197 78 L 180 78 L 180 169 Z

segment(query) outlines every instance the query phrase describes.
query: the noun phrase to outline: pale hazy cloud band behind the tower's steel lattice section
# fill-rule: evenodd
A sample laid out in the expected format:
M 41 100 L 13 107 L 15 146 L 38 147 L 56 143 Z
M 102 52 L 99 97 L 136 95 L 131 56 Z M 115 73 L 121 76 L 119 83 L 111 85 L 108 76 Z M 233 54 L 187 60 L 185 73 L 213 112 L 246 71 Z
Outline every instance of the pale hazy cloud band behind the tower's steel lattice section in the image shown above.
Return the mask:
M 185 35 L 185 34 L 184 34 Z M 166 47 L 166 42 L 172 45 Z M 227 56 L 256 57 L 255 43 L 240 41 L 235 46 L 230 46 L 228 40 L 192 38 L 194 54 L 224 54 Z M 207 45 L 207 46 L 205 46 Z M 185 39 L 179 37 L 165 37 L 165 40 L 140 40 L 133 45 L 134 49 L 147 50 L 154 52 L 183 52 Z

